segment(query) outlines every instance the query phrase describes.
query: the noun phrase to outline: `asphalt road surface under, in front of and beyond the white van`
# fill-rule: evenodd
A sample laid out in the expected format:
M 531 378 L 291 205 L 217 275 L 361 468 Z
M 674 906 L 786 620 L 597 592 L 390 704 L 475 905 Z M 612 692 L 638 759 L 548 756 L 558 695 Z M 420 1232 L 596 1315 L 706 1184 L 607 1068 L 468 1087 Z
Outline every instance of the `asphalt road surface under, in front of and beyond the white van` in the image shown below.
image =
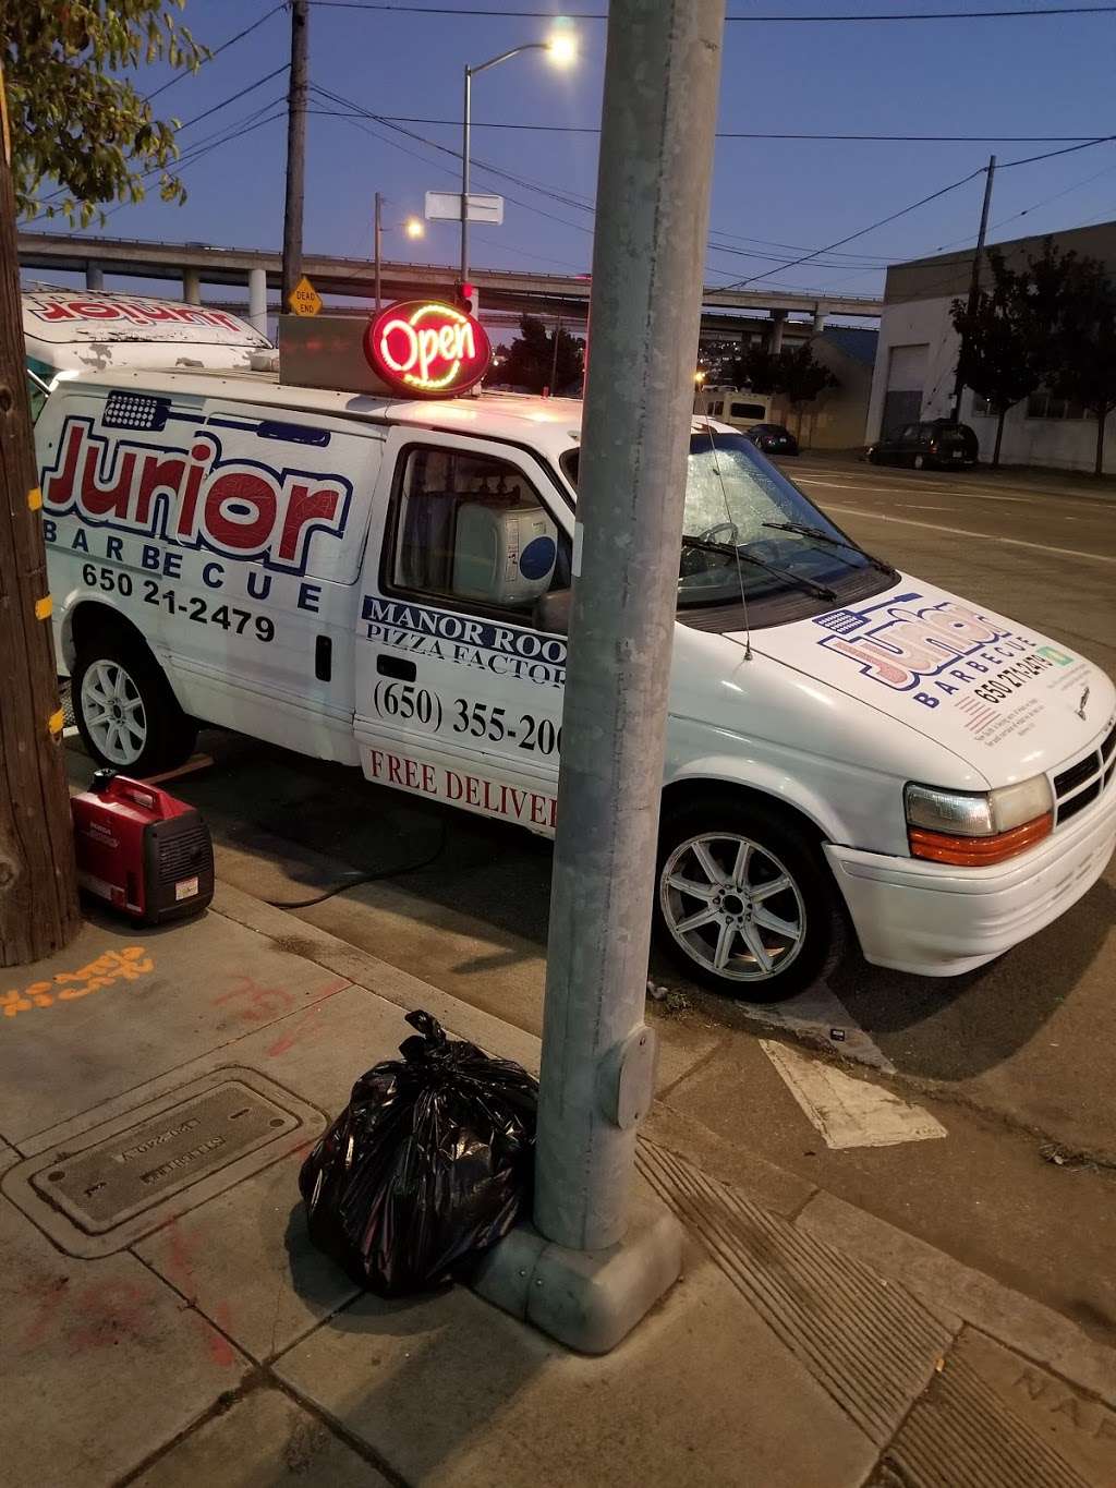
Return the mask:
M 786 469 L 870 551 L 1070 641 L 1116 676 L 1110 490 L 811 455 Z M 202 747 L 213 768 L 174 789 L 205 809 L 226 879 L 292 903 L 375 872 L 293 912 L 540 1030 L 548 844 L 253 741 L 205 734 Z M 653 967 L 686 1004 L 670 1015 L 650 1004 L 674 1080 L 667 1098 L 1116 1342 L 1115 908 L 1110 865 L 1055 926 L 988 967 L 929 981 L 851 952 L 827 990 L 790 1009 L 830 1056 L 890 1067 L 873 1079 L 931 1112 L 942 1140 L 830 1150 L 759 1042 L 796 1036 L 786 1013 Z M 359 1049 L 353 1067 L 363 1067 Z

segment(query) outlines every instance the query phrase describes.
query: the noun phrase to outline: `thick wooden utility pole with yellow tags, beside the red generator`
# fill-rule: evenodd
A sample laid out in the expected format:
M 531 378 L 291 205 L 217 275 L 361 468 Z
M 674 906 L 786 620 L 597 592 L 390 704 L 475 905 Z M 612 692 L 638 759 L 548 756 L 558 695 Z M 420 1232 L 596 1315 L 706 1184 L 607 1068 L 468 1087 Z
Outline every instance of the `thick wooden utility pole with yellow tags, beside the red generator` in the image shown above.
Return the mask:
M 80 927 L 0 73 L 0 967 Z

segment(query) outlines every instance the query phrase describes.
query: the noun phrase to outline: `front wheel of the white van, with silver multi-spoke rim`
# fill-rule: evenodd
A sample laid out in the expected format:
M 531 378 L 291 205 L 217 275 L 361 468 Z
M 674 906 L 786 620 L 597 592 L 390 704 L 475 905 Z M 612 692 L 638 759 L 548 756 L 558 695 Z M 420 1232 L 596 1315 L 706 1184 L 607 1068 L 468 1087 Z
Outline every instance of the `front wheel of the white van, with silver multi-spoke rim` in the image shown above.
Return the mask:
M 676 964 L 753 1003 L 809 987 L 842 934 L 836 887 L 808 833 L 728 795 L 665 815 L 655 900 L 656 937 Z

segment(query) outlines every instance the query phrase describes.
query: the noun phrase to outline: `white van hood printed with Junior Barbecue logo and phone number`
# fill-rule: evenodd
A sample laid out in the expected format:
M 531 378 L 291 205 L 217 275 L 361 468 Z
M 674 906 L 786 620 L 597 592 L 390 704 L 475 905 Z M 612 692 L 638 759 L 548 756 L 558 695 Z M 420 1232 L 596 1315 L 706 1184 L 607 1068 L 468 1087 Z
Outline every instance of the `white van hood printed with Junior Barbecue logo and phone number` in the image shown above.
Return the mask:
M 991 786 L 1056 769 L 1116 713 L 1083 656 L 906 574 L 868 604 L 757 631 L 751 649 L 899 719 Z

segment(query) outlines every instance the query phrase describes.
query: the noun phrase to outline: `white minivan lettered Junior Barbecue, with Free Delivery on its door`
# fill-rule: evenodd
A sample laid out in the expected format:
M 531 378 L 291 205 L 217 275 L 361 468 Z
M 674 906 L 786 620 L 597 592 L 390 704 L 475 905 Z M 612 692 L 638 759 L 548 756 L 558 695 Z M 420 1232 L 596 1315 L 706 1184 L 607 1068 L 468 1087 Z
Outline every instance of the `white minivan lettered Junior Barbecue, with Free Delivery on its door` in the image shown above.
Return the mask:
M 460 326 L 396 335 L 423 391 L 463 354 Z M 37 445 L 91 753 L 150 772 L 205 720 L 552 833 L 580 414 L 259 372 L 61 382 Z M 695 420 L 659 939 L 751 1000 L 814 979 L 845 912 L 876 964 L 981 966 L 1101 875 L 1115 704 L 1080 655 L 869 557 Z

